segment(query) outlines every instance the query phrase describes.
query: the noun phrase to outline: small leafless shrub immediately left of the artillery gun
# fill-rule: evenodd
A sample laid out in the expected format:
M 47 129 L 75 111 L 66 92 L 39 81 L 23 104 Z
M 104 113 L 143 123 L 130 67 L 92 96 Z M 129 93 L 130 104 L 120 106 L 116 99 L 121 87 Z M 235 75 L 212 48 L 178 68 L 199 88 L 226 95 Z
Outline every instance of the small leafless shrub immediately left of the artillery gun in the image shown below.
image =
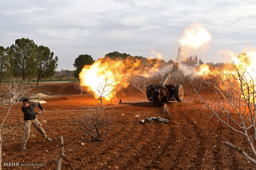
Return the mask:
M 143 76 L 135 76 L 130 80 L 130 85 L 145 94 L 151 79 Z

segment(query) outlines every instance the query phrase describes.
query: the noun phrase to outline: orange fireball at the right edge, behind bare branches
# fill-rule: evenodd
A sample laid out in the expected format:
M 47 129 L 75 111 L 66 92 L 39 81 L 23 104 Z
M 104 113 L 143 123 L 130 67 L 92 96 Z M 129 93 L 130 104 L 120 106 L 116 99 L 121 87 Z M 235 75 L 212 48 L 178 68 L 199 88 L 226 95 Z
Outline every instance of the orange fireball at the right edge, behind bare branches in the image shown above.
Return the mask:
M 204 79 L 218 75 L 223 80 L 223 84 L 220 84 L 220 86 L 223 86 L 223 90 L 229 88 L 229 83 L 232 82 L 233 89 L 230 90 L 240 89 L 243 91 L 240 97 L 248 99 L 248 97 L 256 91 L 256 69 L 254 68 L 256 66 L 256 51 L 248 52 L 248 54 L 242 53 L 238 56 L 235 56 L 233 53 L 230 54 L 232 56 L 232 64 L 237 70 L 234 69 L 234 67 L 230 67 L 231 64 L 224 64 L 222 68 L 214 67 L 213 69 L 210 69 L 207 64 L 201 64 L 198 68 L 197 75 Z M 225 76 L 225 74 L 230 76 Z M 240 80 L 239 75 L 241 76 Z M 238 91 L 239 90 L 237 90 L 237 92 Z M 253 102 L 253 99 L 255 99 L 255 97 L 250 96 L 251 102 Z

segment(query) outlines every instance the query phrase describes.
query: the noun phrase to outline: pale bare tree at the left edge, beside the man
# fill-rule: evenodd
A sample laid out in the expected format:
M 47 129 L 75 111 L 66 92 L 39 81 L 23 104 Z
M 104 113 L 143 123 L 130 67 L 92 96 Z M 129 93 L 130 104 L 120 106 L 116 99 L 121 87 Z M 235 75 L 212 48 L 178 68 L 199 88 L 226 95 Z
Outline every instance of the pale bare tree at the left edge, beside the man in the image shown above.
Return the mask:
M 2 110 L 1 112 L 4 112 L 5 110 L 7 110 L 7 113 L 5 115 L 5 117 L 2 119 L 2 123 L 0 125 L 0 170 L 2 169 L 2 137 L 1 137 L 1 128 L 5 122 L 5 119 L 7 118 L 7 116 L 10 113 L 10 110 L 12 108 L 12 105 L 15 103 L 16 100 L 20 100 L 22 99 L 22 97 L 24 96 L 24 94 L 26 94 L 29 90 L 31 90 L 31 84 L 26 84 L 25 82 L 15 82 L 14 80 L 11 80 L 10 83 L 7 85 L 6 88 L 6 92 L 4 93 L 4 95 L 1 96 L 1 106 L 2 106 Z M 9 99 L 10 104 L 7 107 L 4 107 L 2 105 L 2 101 L 7 101 Z

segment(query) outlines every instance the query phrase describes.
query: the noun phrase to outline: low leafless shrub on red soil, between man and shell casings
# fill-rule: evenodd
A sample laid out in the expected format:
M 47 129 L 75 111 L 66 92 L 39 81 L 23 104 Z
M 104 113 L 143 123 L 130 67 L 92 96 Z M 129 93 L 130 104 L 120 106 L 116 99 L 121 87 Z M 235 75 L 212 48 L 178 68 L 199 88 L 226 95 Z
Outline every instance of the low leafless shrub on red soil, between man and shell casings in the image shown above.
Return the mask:
M 71 128 L 75 131 L 84 131 L 88 133 L 92 141 L 100 141 L 100 136 L 106 134 L 110 125 L 113 123 L 114 119 L 111 115 L 107 116 L 104 114 L 104 110 L 92 110 L 92 113 L 83 113 L 79 117 L 76 117 L 76 124 L 73 124 L 69 119 Z

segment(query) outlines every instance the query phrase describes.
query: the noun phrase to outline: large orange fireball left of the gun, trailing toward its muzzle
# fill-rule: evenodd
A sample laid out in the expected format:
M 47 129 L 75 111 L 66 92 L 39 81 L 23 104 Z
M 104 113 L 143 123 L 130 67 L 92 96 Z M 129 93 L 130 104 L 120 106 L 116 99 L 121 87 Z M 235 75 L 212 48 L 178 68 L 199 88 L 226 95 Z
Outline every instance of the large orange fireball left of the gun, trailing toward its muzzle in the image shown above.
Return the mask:
M 80 85 L 89 87 L 97 96 L 110 100 L 115 95 L 115 91 L 111 91 L 116 86 L 127 87 L 132 76 L 150 77 L 157 73 L 159 66 L 158 59 L 147 59 L 147 63 L 142 63 L 134 57 L 127 57 L 125 60 L 101 58 L 94 64 L 83 67 L 79 74 Z

